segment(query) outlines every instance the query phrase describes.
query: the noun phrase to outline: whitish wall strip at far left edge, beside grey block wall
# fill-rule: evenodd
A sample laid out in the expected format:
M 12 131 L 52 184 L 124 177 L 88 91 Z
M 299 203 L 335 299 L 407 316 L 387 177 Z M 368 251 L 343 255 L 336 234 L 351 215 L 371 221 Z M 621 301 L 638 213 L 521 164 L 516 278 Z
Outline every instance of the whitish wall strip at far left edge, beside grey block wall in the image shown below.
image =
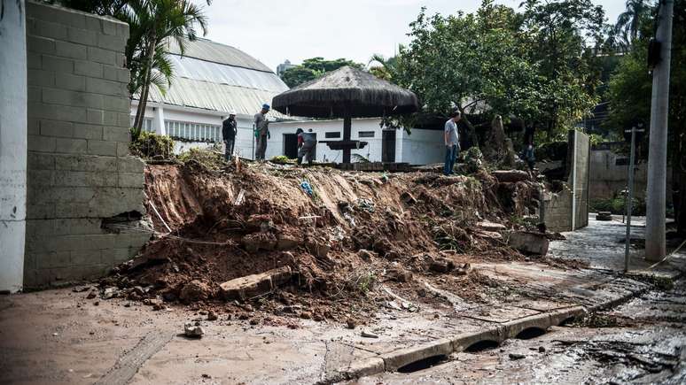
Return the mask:
M 20 7 L 20 8 L 19 8 Z M 19 9 L 21 10 L 19 12 Z M 0 290 L 24 282 L 27 204 L 26 6 L 4 2 L 0 20 Z M 37 122 L 34 122 L 38 129 Z

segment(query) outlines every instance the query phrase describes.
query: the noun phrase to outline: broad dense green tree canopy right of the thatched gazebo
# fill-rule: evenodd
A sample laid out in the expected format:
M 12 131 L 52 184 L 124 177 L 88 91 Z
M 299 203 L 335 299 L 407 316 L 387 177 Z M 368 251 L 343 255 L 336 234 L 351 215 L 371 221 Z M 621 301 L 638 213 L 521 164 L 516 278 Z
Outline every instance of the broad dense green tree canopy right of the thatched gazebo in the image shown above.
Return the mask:
M 587 41 L 603 42 L 602 19 L 590 0 L 528 0 L 520 13 L 491 0 L 470 14 L 422 10 L 392 79 L 427 112 L 463 112 L 468 131 L 469 115 L 493 112 L 555 135 L 597 101 L 599 65 Z

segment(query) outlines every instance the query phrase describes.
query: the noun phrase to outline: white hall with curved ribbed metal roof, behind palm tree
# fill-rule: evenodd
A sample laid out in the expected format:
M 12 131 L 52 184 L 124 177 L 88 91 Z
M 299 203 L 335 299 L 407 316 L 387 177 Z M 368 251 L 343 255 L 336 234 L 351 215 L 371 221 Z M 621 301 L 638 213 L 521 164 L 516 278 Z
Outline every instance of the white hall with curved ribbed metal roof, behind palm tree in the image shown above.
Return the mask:
M 288 89 L 267 65 L 228 45 L 198 39 L 186 42 L 183 57 L 172 42 L 170 55 L 174 79 L 162 95 L 151 87 L 145 109 L 144 129 L 172 136 L 176 152 L 222 142 L 222 119 L 237 112 L 236 150 L 252 158 L 253 115 L 262 104 Z M 131 103 L 131 121 L 138 101 Z M 283 119 L 269 112 L 270 119 Z

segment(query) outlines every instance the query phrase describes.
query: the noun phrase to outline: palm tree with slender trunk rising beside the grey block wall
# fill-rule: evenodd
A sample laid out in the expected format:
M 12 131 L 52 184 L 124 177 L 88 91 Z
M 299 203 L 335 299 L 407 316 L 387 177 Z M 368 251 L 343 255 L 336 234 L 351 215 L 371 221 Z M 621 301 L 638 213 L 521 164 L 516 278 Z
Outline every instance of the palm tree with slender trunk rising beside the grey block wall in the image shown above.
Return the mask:
M 207 35 L 207 19 L 203 9 L 187 0 L 131 0 L 129 7 L 135 14 L 141 37 L 140 50 L 134 54 L 139 60 L 140 97 L 134 120 L 133 136 L 140 135 L 143 127 L 145 106 L 151 84 L 159 86 L 163 80 L 170 81 L 171 65 L 166 60 L 168 42 L 174 40 L 183 55 L 185 42 L 197 38 L 196 26 Z M 168 71 L 154 71 L 157 65 Z

